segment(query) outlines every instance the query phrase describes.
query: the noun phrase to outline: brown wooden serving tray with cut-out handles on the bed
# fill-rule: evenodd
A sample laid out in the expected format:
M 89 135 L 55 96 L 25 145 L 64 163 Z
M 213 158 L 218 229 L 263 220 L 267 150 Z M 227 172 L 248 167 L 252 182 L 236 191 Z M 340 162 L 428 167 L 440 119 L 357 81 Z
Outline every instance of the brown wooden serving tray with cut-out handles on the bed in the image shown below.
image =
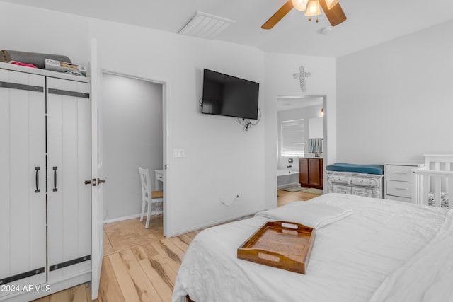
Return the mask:
M 305 274 L 314 228 L 287 221 L 268 221 L 238 248 L 238 258 Z

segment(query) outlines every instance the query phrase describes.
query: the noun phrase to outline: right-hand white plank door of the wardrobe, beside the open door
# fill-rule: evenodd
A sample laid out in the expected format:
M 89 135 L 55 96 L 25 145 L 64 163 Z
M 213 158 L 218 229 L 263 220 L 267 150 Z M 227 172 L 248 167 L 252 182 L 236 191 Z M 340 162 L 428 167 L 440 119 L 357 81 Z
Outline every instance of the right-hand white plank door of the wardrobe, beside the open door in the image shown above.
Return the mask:
M 47 78 L 49 281 L 91 271 L 90 85 Z

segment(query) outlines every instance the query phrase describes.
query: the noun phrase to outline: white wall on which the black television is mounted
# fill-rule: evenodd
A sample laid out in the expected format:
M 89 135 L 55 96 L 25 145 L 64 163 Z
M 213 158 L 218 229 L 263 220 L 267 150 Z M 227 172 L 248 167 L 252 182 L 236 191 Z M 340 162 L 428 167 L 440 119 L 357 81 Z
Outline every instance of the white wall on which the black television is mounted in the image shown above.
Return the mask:
M 263 209 L 264 122 L 244 132 L 231 117 L 200 113 L 203 68 L 263 83 L 263 53 L 99 20 L 90 30 L 101 68 L 166 82 L 167 235 Z M 173 149 L 184 149 L 185 158 L 173 158 Z

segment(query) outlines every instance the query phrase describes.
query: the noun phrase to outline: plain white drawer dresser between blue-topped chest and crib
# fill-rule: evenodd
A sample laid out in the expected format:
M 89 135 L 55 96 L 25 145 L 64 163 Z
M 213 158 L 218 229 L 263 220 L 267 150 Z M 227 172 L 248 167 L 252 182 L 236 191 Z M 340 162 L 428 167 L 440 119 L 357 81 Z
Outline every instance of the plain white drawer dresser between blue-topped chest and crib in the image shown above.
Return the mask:
M 400 202 L 412 200 L 412 170 L 419 168 L 421 163 L 386 163 L 385 169 L 385 199 Z

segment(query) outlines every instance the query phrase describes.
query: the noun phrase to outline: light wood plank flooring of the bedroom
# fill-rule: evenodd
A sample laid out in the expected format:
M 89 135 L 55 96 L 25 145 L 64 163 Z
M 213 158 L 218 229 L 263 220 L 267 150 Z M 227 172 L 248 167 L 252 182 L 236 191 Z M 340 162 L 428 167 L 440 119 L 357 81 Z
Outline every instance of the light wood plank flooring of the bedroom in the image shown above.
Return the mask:
M 278 190 L 278 207 L 318 195 Z M 171 301 L 176 274 L 190 241 L 201 230 L 165 238 L 162 215 L 152 216 L 149 228 L 139 219 L 104 226 L 104 257 L 96 301 Z M 59 291 L 35 302 L 88 302 L 88 284 Z

